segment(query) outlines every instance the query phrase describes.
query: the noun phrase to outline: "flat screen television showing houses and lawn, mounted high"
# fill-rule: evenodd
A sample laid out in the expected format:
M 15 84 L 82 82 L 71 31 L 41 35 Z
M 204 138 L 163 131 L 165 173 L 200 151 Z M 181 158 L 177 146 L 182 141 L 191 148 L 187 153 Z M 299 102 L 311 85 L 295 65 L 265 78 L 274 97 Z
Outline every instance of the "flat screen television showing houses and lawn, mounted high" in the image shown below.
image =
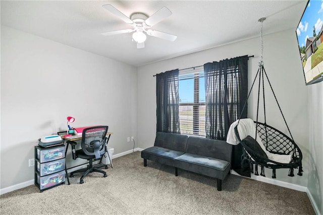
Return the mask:
M 305 84 L 323 81 L 322 2 L 309 0 L 296 29 Z

